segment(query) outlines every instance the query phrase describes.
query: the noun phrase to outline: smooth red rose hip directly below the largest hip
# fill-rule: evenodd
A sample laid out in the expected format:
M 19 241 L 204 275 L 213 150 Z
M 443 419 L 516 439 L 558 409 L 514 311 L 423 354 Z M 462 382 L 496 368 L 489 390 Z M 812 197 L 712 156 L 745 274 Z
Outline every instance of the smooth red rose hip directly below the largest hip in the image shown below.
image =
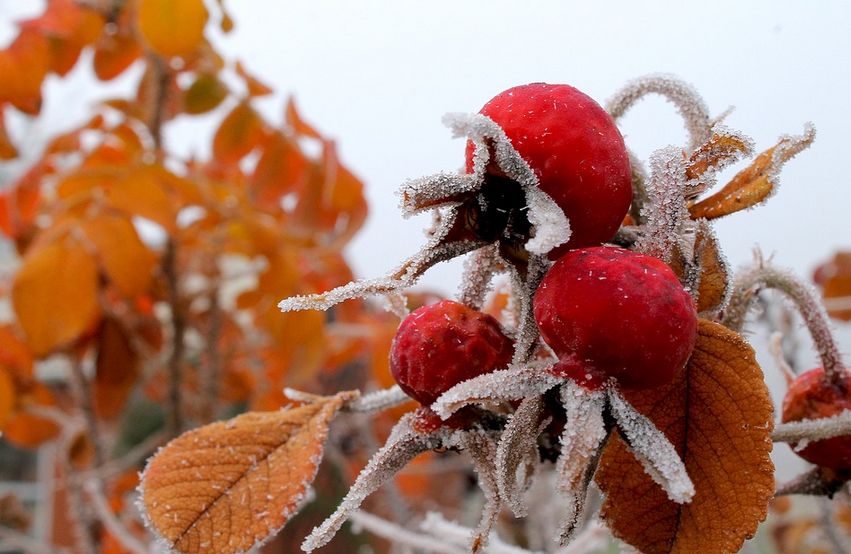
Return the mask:
M 670 382 L 691 356 L 697 311 L 664 262 L 614 246 L 572 250 L 535 293 L 535 320 L 559 357 L 553 373 L 589 388 Z

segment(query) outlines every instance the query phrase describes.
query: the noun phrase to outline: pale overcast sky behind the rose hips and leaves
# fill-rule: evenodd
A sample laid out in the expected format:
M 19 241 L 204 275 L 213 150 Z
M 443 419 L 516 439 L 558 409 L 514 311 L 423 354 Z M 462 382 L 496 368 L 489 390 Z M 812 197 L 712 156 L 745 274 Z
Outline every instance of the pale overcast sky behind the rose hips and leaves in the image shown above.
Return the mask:
M 802 132 L 806 121 L 818 131 L 813 147 L 783 169 L 775 197 L 717 224 L 734 267 L 760 246 L 809 276 L 837 248 L 851 248 L 847 1 L 226 3 L 236 29 L 210 36 L 276 91 L 263 111 L 279 121 L 286 95 L 294 94 L 302 115 L 338 141 L 366 183 L 370 219 L 349 250 L 361 277 L 385 273 L 423 242 L 428 219 L 403 220 L 395 191 L 406 178 L 461 166 L 464 145 L 440 123 L 444 113 L 477 111 L 500 91 L 535 81 L 568 83 L 602 103 L 628 80 L 659 72 L 692 83 L 713 115 L 735 106 L 726 124 L 759 151 Z M 0 39 L 8 40 L 15 17 L 40 5 L 0 0 Z M 32 140 L 39 130 L 73 125 L 96 99 L 127 90 L 134 78 L 95 86 L 86 69 L 52 80 Z M 178 120 L 166 130 L 167 144 L 204 155 L 211 125 Z M 659 98 L 634 108 L 622 132 L 643 159 L 685 143 L 676 112 Z M 459 276 L 460 263 L 445 264 L 422 284 L 451 294 Z

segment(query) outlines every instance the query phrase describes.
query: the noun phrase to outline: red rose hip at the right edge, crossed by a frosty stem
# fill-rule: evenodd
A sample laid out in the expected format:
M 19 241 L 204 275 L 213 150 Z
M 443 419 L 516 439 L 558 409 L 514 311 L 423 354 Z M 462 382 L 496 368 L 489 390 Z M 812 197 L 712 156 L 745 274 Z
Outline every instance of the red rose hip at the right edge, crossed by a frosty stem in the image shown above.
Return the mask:
M 820 419 L 851 410 L 851 374 L 828 379 L 817 367 L 802 373 L 789 386 L 783 399 L 783 423 Z M 851 437 L 813 441 L 797 454 L 808 462 L 832 469 L 851 469 Z

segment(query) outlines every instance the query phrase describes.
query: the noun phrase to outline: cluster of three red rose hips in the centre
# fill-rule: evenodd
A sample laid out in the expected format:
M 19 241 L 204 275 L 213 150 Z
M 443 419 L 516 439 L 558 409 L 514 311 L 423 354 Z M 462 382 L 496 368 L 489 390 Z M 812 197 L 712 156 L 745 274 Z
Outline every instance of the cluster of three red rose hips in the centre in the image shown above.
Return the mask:
M 697 311 L 667 264 L 600 246 L 613 238 L 632 199 L 629 156 L 612 118 L 575 88 L 542 83 L 509 89 L 481 113 L 502 128 L 570 222 L 570 238 L 551 251 L 556 262 L 534 295 L 538 328 L 559 358 L 550 371 L 589 389 L 610 380 L 623 388 L 669 382 L 694 347 Z M 508 196 L 492 191 L 513 185 L 495 163 L 485 183 L 491 196 L 476 205 L 486 207 Z M 492 236 L 503 231 L 496 224 L 528 229 L 517 223 L 522 204 L 500 208 L 496 222 L 482 223 L 479 214 L 479 227 Z M 493 317 L 447 300 L 402 322 L 391 370 L 408 395 L 429 406 L 462 381 L 508 367 L 512 344 Z

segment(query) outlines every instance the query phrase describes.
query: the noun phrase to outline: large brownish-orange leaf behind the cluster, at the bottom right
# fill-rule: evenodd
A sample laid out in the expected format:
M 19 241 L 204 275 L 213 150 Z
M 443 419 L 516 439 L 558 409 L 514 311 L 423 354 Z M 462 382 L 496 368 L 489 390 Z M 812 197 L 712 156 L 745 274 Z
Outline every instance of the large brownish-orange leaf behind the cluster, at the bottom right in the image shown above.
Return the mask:
M 647 554 L 737 552 L 774 495 L 772 406 L 751 347 L 701 320 L 691 360 L 673 383 L 624 395 L 677 448 L 696 494 L 690 504 L 669 500 L 615 436 L 596 475 L 614 534 Z

